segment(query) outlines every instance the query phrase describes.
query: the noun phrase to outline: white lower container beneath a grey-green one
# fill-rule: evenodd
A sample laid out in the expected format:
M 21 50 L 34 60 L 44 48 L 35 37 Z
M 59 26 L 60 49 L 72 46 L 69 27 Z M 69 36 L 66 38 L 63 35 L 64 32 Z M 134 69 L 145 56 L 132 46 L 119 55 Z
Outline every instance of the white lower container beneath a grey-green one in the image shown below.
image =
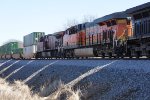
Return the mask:
M 25 59 L 34 58 L 37 52 L 37 45 L 32 45 L 23 48 L 23 56 Z

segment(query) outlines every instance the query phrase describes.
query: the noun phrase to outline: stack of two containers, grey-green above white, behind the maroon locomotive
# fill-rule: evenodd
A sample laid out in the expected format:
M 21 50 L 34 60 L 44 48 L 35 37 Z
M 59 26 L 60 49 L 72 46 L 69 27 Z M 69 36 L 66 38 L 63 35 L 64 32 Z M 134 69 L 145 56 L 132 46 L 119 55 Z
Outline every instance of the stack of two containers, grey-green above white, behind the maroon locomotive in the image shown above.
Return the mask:
M 45 35 L 44 32 L 33 32 L 24 36 L 24 58 L 30 59 L 34 58 L 37 52 L 37 44 L 41 37 Z

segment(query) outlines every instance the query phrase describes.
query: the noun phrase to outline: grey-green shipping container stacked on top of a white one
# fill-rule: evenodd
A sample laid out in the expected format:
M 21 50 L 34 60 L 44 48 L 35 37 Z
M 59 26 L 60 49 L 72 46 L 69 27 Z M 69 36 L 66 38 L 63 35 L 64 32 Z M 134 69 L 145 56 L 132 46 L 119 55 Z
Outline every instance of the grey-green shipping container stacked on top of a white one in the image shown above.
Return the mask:
M 24 47 L 37 45 L 38 41 L 40 41 L 40 38 L 43 37 L 44 35 L 45 35 L 44 32 L 33 32 L 31 34 L 24 36 L 23 38 Z

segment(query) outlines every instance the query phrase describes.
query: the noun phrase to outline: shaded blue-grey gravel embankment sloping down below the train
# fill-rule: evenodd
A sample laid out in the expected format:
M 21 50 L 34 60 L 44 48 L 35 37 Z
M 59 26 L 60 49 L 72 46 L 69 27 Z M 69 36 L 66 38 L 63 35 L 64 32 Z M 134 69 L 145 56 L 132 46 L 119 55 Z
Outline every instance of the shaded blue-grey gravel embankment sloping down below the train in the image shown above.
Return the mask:
M 113 60 L 58 60 L 55 64 L 47 66 L 55 61 L 57 60 L 31 62 L 7 80 L 23 81 L 38 72 L 27 82 L 34 91 L 40 91 L 41 86 L 57 83 L 59 80 L 68 84 L 78 79 L 73 88 L 81 89 L 83 100 L 150 99 L 149 60 L 118 60 L 101 70 L 99 70 L 100 66 L 105 66 Z M 14 62 L 15 60 L 5 63 L 0 67 L 0 71 Z M 5 78 L 28 62 L 28 60 L 20 61 L 0 76 Z M 89 74 L 90 70 L 94 70 L 94 73 Z M 87 75 L 87 77 L 81 78 L 82 75 Z

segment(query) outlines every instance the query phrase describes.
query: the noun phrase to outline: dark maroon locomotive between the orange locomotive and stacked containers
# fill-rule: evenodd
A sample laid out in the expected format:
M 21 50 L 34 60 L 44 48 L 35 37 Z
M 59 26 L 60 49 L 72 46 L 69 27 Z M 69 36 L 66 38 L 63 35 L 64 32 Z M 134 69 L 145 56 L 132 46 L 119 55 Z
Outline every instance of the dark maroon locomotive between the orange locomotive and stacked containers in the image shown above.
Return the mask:
M 45 35 L 40 38 L 37 44 L 37 58 L 51 58 L 63 56 L 63 35 L 64 32 Z

